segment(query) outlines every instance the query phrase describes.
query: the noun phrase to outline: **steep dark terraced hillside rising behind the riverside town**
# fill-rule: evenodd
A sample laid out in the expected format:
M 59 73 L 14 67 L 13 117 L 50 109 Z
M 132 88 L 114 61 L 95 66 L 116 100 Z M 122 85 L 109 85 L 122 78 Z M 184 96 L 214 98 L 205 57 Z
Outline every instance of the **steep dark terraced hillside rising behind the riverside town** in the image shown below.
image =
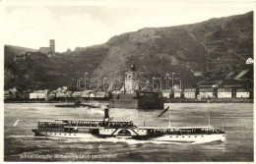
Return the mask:
M 187 87 L 222 84 L 231 72 L 246 69 L 251 70 L 246 80 L 252 82 L 253 68 L 245 62 L 253 57 L 253 13 L 178 27 L 146 27 L 50 59 L 41 56 L 34 53 L 26 62 L 10 62 L 12 54 L 5 48 L 5 86 L 24 84 L 22 77 L 38 88 L 75 85 L 85 72 L 98 78 L 124 77 L 132 62 L 148 77 L 174 72 Z

